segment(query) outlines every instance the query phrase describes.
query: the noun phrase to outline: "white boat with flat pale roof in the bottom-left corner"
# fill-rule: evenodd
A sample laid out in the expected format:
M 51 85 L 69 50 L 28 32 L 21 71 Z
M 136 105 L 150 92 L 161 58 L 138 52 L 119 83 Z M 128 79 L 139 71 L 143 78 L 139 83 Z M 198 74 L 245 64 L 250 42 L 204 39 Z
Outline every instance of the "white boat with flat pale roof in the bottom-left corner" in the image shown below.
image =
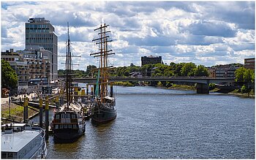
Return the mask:
M 45 159 L 45 131 L 26 123 L 1 126 L 1 159 Z

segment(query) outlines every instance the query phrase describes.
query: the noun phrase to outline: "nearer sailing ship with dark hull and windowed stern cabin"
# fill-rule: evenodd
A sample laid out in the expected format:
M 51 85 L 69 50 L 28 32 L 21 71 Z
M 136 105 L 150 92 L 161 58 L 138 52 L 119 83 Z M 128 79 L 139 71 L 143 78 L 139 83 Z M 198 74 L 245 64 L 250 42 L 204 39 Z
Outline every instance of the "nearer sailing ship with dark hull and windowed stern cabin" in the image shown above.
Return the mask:
M 59 140 L 71 140 L 80 137 L 86 131 L 83 107 L 74 99 L 72 87 L 72 56 L 70 51 L 69 25 L 67 23 L 66 55 L 66 98 L 67 103 L 56 110 L 53 117 L 53 134 Z

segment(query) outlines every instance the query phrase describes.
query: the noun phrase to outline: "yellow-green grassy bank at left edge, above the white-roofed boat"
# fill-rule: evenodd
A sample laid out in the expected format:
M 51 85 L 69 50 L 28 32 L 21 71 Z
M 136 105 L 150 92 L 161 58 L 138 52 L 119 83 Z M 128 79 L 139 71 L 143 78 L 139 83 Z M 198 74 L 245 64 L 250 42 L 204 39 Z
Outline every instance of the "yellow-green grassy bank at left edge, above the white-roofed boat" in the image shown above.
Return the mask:
M 5 103 L 5 104 L 1 104 L 1 118 L 10 118 L 13 121 L 18 121 L 18 122 L 23 122 L 23 106 L 20 106 L 18 104 L 14 104 L 11 103 L 11 105 L 9 105 L 9 103 Z M 29 118 L 34 117 L 34 115 L 37 115 L 39 113 L 38 109 L 32 108 L 32 107 L 28 107 L 28 115 Z M 5 121 L 2 120 L 3 123 L 10 123 L 9 121 Z

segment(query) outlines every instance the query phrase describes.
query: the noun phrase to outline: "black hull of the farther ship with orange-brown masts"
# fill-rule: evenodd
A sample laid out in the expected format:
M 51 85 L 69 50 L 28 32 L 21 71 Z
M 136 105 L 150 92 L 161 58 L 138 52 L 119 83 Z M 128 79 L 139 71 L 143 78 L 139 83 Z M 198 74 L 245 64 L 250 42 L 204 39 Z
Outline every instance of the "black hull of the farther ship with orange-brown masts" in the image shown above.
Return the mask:
M 114 109 L 101 109 L 94 110 L 93 115 L 91 115 L 91 122 L 95 124 L 108 123 L 116 119 L 116 110 Z

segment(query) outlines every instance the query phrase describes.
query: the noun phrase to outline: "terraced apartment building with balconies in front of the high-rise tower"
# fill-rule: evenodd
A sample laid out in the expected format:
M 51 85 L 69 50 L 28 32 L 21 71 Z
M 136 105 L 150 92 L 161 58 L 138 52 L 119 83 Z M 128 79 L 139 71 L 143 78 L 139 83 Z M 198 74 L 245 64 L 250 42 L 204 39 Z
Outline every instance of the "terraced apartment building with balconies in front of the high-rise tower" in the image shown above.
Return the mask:
M 1 59 L 8 61 L 12 69 L 18 75 L 18 94 L 26 94 L 31 91 L 37 91 L 39 85 L 48 84 L 50 80 L 50 61 L 48 56 L 51 55 L 49 50 L 37 46 L 32 50 L 12 49 L 1 52 Z

